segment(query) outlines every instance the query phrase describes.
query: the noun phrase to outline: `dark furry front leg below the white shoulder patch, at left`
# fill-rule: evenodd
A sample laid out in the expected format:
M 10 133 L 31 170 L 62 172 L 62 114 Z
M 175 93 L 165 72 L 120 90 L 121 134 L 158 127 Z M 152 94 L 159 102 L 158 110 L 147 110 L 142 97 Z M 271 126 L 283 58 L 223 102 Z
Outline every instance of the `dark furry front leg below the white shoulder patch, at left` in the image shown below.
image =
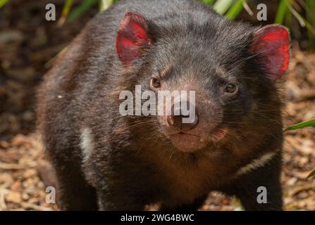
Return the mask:
M 99 153 L 85 163 L 86 176 L 97 193 L 99 210 L 144 210 L 145 205 L 152 203 L 154 185 L 148 167 L 131 156 L 112 159 Z

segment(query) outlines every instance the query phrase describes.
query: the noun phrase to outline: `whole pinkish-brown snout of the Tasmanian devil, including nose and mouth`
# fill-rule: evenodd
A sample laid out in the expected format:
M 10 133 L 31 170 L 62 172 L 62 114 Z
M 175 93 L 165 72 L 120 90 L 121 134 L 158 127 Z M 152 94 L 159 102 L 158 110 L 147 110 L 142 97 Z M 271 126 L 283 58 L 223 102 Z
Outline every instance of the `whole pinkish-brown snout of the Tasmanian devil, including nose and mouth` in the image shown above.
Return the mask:
M 168 86 L 164 88 L 171 94 L 158 99 L 158 110 L 163 112 L 158 115 L 160 131 L 175 148 L 192 153 L 223 139 L 226 134 L 220 127 L 223 109 L 203 84 L 185 80 L 185 84 L 171 86 L 171 91 Z

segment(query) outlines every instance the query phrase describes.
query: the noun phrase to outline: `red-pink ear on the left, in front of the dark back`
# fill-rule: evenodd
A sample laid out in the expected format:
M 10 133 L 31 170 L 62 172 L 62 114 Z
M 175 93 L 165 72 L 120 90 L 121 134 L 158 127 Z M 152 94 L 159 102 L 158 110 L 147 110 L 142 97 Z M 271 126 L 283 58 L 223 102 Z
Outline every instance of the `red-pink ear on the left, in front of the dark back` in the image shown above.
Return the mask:
M 151 44 L 147 28 L 142 15 L 132 11 L 125 13 L 116 37 L 116 51 L 125 65 L 139 58 L 144 53 L 143 47 Z

